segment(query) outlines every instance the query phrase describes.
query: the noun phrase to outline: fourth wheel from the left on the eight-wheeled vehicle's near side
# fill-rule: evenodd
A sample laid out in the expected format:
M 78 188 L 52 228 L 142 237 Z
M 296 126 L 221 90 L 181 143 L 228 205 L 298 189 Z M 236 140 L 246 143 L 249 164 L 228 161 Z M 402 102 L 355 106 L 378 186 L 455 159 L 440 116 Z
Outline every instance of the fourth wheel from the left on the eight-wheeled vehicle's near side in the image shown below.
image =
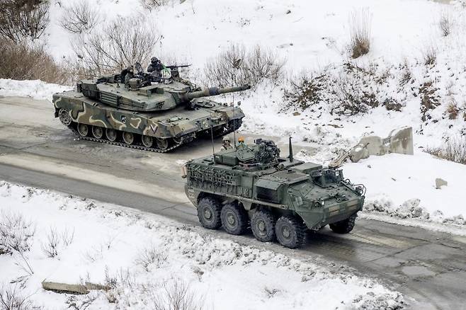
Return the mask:
M 285 215 L 275 224 L 275 234 L 282 246 L 299 248 L 305 242 L 305 226 L 296 217 Z

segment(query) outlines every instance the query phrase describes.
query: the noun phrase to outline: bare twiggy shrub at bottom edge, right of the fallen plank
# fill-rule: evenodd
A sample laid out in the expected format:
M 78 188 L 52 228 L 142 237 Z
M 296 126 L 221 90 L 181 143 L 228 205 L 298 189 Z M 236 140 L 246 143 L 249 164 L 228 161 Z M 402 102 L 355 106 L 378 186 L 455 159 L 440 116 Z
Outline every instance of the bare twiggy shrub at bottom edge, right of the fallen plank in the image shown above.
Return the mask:
M 185 282 L 176 280 L 166 284 L 162 292 L 152 292 L 154 310 L 201 310 L 203 299 L 196 297 Z

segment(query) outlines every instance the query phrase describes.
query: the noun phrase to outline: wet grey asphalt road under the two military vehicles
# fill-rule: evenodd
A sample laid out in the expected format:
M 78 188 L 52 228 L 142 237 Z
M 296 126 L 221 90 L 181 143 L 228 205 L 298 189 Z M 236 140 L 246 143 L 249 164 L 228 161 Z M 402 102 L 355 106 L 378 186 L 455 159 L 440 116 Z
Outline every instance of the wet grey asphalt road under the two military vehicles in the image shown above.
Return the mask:
M 0 98 L 0 112 L 0 179 L 198 226 L 195 209 L 183 195 L 179 166 L 208 154 L 210 142 L 152 154 L 76 140 L 52 118 L 46 101 Z M 259 243 L 250 234 L 211 233 L 290 256 L 348 265 L 404 293 L 412 309 L 466 309 L 465 237 L 358 219 L 351 234 L 322 229 L 309 235 L 305 248 L 291 251 Z

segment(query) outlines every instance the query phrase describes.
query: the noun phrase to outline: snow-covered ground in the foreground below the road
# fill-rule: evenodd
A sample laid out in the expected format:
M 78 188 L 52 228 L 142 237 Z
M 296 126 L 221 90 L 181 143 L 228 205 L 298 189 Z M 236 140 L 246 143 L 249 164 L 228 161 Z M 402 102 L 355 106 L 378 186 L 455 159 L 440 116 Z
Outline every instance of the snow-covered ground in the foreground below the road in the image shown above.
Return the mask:
M 331 270 L 154 214 L 1 182 L 0 229 L 18 216 L 23 222 L 0 235 L 0 250 L 8 251 L 6 241 L 16 237 L 22 256 L 11 248 L 0 255 L 0 288 L 21 287 L 19 294 L 44 309 L 155 308 L 181 288 L 204 309 L 393 309 L 403 303 L 399 293 L 344 266 Z M 43 290 L 42 280 L 93 282 L 108 291 L 57 294 Z

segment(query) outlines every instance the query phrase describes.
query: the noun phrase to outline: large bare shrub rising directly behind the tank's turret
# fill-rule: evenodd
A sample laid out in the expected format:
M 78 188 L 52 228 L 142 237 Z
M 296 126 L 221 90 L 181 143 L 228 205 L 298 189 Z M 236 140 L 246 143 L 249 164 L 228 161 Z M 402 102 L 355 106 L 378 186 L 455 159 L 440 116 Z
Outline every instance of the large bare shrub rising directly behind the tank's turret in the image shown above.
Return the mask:
M 89 76 L 121 70 L 130 64 L 147 63 L 160 36 L 142 16 L 117 18 L 101 31 L 80 35 L 72 43 L 78 60 L 74 67 Z

